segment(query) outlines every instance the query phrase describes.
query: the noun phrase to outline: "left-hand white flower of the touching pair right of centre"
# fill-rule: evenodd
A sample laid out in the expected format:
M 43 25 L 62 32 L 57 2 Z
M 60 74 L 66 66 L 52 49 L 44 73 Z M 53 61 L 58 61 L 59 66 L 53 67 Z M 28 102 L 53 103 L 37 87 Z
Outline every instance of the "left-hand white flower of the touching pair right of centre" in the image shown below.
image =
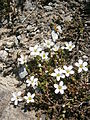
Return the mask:
M 51 74 L 51 76 L 56 77 L 57 81 L 60 80 L 60 78 L 65 78 L 65 75 L 63 74 L 62 69 L 55 69 L 54 73 Z

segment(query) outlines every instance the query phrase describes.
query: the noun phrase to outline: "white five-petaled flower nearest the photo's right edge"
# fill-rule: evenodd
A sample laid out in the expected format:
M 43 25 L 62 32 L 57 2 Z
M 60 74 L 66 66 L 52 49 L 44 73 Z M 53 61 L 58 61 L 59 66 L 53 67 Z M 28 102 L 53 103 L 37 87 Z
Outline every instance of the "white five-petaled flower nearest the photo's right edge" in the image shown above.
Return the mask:
M 79 59 L 78 62 L 75 63 L 75 65 L 79 68 L 78 69 L 78 73 L 82 72 L 82 70 L 84 71 L 88 71 L 87 62 L 83 62 L 83 60 Z

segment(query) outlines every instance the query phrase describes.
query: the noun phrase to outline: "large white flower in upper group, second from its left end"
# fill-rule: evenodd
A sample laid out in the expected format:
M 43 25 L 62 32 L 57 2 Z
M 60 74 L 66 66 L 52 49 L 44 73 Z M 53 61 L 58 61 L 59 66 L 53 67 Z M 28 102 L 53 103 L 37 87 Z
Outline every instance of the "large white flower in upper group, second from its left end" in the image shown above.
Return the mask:
M 30 54 L 36 57 L 37 55 L 40 54 L 42 48 L 39 45 L 35 45 L 34 47 L 30 47 L 29 50 L 31 52 Z

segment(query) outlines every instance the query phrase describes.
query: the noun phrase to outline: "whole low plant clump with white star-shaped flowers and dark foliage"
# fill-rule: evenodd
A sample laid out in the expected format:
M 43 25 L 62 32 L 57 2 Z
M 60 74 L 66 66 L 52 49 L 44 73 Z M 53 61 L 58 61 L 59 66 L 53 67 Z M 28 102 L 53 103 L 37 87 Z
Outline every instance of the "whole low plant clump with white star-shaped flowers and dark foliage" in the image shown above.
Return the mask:
M 15 106 L 23 104 L 25 110 L 34 108 L 39 111 L 37 115 L 45 113 L 50 119 L 83 119 L 86 112 L 79 109 L 88 101 L 88 63 L 82 56 L 73 57 L 75 43 L 57 42 L 63 31 L 60 25 L 56 28 L 51 39 L 29 48 L 30 56 L 18 57 L 18 65 L 24 66 L 28 75 L 23 81 L 25 89 L 13 93 L 11 101 Z

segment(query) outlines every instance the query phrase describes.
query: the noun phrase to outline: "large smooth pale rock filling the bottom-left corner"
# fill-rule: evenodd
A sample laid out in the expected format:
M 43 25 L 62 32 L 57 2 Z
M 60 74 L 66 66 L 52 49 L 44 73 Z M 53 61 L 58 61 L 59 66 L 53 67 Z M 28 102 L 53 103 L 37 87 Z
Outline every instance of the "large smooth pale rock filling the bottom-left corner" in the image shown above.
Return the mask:
M 0 76 L 0 120 L 37 120 L 35 111 L 24 113 L 21 108 L 14 108 L 10 103 L 11 93 L 21 90 L 16 88 L 18 81 L 13 77 Z

